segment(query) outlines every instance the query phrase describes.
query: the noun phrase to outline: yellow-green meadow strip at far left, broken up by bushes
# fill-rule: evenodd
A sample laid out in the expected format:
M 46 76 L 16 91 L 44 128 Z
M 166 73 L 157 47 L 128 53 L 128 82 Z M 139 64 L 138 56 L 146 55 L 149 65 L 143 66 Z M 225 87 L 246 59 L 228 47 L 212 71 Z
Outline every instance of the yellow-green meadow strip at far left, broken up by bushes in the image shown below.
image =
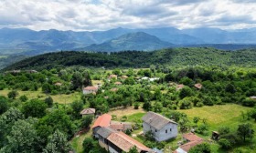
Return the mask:
M 7 97 L 8 93 L 10 91 L 11 90 L 8 90 L 8 89 L 1 90 L 0 95 Z M 44 99 L 44 98 L 48 97 L 48 95 L 42 93 L 40 89 L 38 91 L 20 91 L 20 90 L 18 90 L 17 92 L 18 92 L 18 97 L 26 95 L 28 97 L 28 99 L 33 99 L 33 98 Z M 69 104 L 69 103 L 72 103 L 75 100 L 80 99 L 80 93 L 75 92 L 75 93 L 70 94 L 70 95 L 66 95 L 66 94 L 51 95 L 50 97 L 52 97 L 53 101 L 56 102 L 56 103 Z

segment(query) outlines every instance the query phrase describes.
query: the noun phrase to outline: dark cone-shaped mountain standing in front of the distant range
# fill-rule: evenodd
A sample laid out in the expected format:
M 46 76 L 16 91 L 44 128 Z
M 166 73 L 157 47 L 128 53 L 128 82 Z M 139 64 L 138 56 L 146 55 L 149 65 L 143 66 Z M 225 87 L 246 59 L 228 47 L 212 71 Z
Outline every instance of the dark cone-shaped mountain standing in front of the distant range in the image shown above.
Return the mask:
M 152 51 L 170 46 L 172 46 L 171 43 L 164 42 L 156 36 L 151 36 L 144 32 L 136 32 L 119 36 L 99 45 L 91 45 L 78 50 L 96 52 L 116 52 L 123 50 Z

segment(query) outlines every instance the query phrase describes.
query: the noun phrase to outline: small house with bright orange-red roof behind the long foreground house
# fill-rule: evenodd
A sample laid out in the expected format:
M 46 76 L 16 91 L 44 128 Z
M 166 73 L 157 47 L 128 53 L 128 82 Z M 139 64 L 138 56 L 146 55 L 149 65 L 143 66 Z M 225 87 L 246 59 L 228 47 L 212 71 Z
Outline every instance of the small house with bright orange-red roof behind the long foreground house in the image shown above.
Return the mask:
M 100 129 L 100 128 L 103 128 L 103 127 L 109 127 L 111 125 L 111 120 L 112 120 L 112 116 L 109 115 L 109 114 L 103 114 L 101 115 L 100 117 L 98 117 L 93 126 L 92 126 L 92 134 L 95 138 L 98 138 L 98 134 L 97 134 L 97 131 Z

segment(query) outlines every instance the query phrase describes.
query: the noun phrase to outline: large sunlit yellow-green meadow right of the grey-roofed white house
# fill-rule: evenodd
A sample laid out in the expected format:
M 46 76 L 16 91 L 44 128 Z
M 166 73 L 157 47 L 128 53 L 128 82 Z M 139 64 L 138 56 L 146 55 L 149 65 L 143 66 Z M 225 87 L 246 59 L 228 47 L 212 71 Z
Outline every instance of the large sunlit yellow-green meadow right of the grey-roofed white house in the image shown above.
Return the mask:
M 245 122 L 250 122 L 253 125 L 254 131 L 256 131 L 256 123 L 252 119 L 250 121 L 243 121 L 241 117 L 242 111 L 246 113 L 249 110 L 251 110 L 251 107 L 242 107 L 235 104 L 229 104 L 213 107 L 193 107 L 191 109 L 178 111 L 186 113 L 190 119 L 192 119 L 193 117 L 206 118 L 209 126 L 209 132 L 208 136 L 204 138 L 209 138 L 212 131 L 218 130 L 222 126 L 229 127 L 231 131 L 235 132 L 238 128 L 238 125 Z M 253 148 L 249 147 L 249 143 L 245 144 L 246 146 L 240 146 L 238 148 L 248 153 L 253 152 L 253 150 L 254 152 L 256 152 L 256 133 L 254 133 L 254 138 L 252 139 L 251 144 Z M 221 150 L 217 143 L 212 144 L 211 148 L 214 153 L 227 152 L 225 150 Z M 230 152 L 232 152 L 232 150 Z

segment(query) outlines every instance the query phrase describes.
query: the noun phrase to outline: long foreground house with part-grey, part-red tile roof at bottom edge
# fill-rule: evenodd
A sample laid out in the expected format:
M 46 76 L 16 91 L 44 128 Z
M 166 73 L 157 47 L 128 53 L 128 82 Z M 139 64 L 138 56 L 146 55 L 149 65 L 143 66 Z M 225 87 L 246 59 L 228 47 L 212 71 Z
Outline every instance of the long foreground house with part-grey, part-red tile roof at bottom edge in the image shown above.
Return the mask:
M 100 128 L 97 132 L 99 136 L 99 144 L 110 153 L 129 152 L 133 147 L 137 148 L 139 153 L 150 152 L 151 149 L 145 147 L 142 143 L 127 136 L 121 131 L 112 128 Z

